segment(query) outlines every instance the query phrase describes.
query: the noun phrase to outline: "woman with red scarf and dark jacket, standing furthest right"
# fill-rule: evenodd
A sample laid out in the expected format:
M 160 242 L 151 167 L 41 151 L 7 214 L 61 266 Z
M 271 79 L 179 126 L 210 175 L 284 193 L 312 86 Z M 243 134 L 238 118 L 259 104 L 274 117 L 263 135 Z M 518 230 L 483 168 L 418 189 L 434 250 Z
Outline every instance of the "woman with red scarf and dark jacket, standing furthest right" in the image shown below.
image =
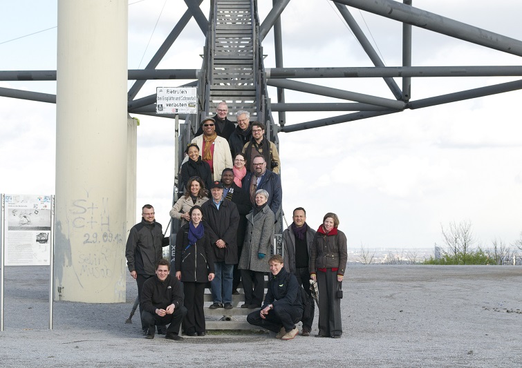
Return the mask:
M 337 230 L 339 217 L 328 212 L 315 233 L 310 249 L 310 278 L 319 288 L 319 338 L 340 338 L 342 335 L 341 299 L 348 253 L 346 235 Z M 342 296 L 341 296 L 342 297 Z

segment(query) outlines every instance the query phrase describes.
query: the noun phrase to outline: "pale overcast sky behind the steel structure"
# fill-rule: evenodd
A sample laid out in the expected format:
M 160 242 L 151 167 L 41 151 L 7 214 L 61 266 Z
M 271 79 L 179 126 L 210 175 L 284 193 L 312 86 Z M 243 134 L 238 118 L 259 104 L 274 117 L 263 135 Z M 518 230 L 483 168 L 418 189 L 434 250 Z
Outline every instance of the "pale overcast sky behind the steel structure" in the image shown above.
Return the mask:
M 259 3 L 262 21 L 272 1 Z M 283 12 L 284 66 L 372 66 L 330 1 L 303 3 L 292 0 Z M 476 6 L 476 1 L 416 0 L 413 5 L 522 39 L 520 1 Z M 207 0 L 202 8 L 207 15 Z M 185 10 L 183 1 L 129 1 L 129 69 L 147 65 Z M 376 43 L 384 64 L 400 66 L 402 24 L 357 9 L 351 12 Z M 0 70 L 55 70 L 56 26 L 56 1 L 10 2 L 0 22 Z M 33 32 L 38 33 L 17 39 Z M 201 68 L 204 43 L 192 19 L 158 68 Z M 265 67 L 274 67 L 272 32 L 263 41 L 263 53 Z M 416 66 L 521 64 L 519 57 L 419 28 L 413 28 L 412 53 Z M 515 79 L 519 78 L 413 79 L 411 99 Z M 380 79 L 304 81 L 393 98 Z M 395 81 L 402 86 L 400 78 Z M 156 86 L 185 82 L 149 82 L 138 98 L 155 93 Z M 10 81 L 0 86 L 56 92 L 55 82 Z M 276 101 L 273 88 L 270 96 Z M 340 100 L 287 91 L 286 101 Z M 335 212 L 351 247 L 429 247 L 442 243 L 441 223 L 464 220 L 472 222 L 483 246 L 490 246 L 494 238 L 514 242 L 522 231 L 521 101 L 517 91 L 279 134 L 288 222 L 297 206 L 305 207 L 307 222 L 315 229 L 325 213 Z M 341 114 L 286 117 L 290 125 Z M 55 193 L 55 105 L 0 97 L 0 116 L 0 192 Z M 136 116 L 141 123 L 138 207 L 153 204 L 157 220 L 165 226 L 174 183 L 174 121 Z M 151 180 L 150 173 L 158 175 Z

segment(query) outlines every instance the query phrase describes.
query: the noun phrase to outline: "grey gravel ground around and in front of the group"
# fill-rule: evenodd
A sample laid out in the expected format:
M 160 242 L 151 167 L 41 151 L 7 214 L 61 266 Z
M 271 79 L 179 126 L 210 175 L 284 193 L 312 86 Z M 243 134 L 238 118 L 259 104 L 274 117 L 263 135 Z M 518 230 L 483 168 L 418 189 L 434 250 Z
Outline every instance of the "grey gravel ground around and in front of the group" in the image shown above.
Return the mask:
M 127 303 L 54 303 L 48 268 L 7 267 L 2 367 L 522 367 L 522 267 L 348 266 L 343 336 L 146 340 Z M 317 333 L 317 314 L 313 333 Z

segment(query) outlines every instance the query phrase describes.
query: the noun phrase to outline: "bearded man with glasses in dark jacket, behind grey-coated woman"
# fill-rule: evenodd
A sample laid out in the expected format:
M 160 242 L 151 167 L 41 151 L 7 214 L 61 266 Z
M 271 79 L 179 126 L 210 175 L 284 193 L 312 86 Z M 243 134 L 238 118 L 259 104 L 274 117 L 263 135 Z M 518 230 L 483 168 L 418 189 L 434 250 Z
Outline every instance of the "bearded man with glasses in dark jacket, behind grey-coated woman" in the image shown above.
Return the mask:
M 255 193 L 259 189 L 268 192 L 268 206 L 277 220 L 278 211 L 281 209 L 283 190 L 281 188 L 281 177 L 266 169 L 265 157 L 257 155 L 253 159 L 254 173 L 247 173 L 243 178 L 243 188 L 250 194 L 250 202 L 254 204 Z

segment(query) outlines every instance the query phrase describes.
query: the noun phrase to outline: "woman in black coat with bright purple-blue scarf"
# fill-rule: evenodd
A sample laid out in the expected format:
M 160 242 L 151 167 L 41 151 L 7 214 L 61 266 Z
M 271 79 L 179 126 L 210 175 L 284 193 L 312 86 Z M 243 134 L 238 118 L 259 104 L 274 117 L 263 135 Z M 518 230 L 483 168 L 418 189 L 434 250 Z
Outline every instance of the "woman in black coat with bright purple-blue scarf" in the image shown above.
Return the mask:
M 183 282 L 185 293 L 185 333 L 205 336 L 204 293 L 207 282 L 214 279 L 214 254 L 203 226 L 201 206 L 193 206 L 189 217 L 189 223 L 181 226 L 176 235 L 176 278 Z

